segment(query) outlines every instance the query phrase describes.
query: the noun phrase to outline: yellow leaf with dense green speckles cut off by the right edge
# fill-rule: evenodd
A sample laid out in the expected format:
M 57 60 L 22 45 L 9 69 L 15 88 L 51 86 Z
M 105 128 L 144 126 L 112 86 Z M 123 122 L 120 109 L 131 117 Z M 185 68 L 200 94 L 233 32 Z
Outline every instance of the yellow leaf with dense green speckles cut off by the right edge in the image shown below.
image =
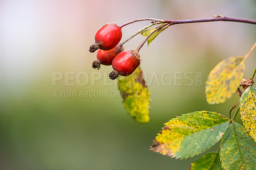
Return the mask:
M 256 141 L 256 88 L 248 87 L 240 98 L 240 114 L 246 131 Z

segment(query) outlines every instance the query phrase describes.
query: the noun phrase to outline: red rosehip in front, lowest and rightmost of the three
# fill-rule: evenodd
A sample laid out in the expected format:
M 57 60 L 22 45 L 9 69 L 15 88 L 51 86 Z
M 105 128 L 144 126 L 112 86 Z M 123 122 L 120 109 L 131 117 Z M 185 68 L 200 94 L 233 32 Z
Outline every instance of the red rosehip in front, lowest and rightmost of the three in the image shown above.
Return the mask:
M 128 76 L 140 65 L 140 54 L 137 50 L 124 50 L 112 61 L 113 72 L 109 78 L 115 80 L 118 75 Z

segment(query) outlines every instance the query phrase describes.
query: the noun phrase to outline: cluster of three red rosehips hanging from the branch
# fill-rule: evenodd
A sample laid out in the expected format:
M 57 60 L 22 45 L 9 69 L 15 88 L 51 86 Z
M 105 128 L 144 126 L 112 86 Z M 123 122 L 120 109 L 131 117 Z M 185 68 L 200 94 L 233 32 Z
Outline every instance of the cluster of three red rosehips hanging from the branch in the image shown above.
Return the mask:
M 138 50 L 124 50 L 120 40 L 122 28 L 115 23 L 102 26 L 95 35 L 95 43 L 90 46 L 90 52 L 97 52 L 97 61 L 93 61 L 92 67 L 99 70 L 101 65 L 112 65 L 114 71 L 109 73 L 109 78 L 117 79 L 118 75 L 131 75 L 140 65 Z

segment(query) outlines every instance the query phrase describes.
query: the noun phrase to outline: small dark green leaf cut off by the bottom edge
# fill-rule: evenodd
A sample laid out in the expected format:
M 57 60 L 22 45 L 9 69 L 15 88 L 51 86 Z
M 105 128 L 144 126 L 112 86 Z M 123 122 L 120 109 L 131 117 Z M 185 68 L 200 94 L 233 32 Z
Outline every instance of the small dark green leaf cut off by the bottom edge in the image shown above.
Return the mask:
M 220 155 L 208 153 L 191 164 L 190 170 L 221 170 Z

